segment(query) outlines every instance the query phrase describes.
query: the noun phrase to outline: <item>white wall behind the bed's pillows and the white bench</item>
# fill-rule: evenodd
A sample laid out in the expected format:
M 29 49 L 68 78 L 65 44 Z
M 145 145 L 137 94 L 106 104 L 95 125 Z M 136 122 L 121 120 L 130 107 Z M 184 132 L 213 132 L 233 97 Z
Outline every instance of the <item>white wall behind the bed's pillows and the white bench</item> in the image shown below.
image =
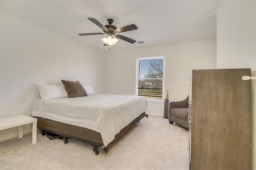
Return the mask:
M 0 117 L 31 116 L 30 104 L 40 98 L 35 84 L 79 80 L 91 83 L 96 93 L 104 92 L 103 56 L 82 43 L 1 12 Z M 1 130 L 0 141 L 15 136 L 17 128 Z

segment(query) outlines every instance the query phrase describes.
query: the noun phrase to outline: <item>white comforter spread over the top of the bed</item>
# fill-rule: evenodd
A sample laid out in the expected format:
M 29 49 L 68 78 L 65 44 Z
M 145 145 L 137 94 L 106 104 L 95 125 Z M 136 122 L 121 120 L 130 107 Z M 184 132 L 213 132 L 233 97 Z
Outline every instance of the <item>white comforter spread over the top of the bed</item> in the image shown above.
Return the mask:
M 36 99 L 32 109 L 58 115 L 96 121 L 102 140 L 107 146 L 120 130 L 141 113 L 146 112 L 147 102 L 137 95 L 91 94 L 86 97 Z

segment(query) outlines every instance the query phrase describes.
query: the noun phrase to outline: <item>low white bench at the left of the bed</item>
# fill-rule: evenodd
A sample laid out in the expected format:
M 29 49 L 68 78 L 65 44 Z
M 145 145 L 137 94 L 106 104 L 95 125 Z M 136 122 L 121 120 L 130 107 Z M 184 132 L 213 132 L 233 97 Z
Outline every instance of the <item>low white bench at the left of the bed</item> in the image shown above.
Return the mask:
M 37 119 L 25 115 L 18 115 L 13 117 L 6 117 L 0 119 L 0 130 L 4 130 L 12 127 L 19 127 L 18 138 L 22 138 L 23 136 L 23 125 L 28 123 L 32 123 L 32 144 L 36 143 L 36 127 L 37 127 Z

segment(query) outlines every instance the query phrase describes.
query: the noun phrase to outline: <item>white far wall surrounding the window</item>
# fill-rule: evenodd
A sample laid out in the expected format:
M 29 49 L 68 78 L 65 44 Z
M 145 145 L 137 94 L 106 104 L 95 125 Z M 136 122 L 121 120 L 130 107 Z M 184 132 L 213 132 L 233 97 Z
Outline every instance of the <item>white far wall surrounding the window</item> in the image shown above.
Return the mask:
M 166 56 L 166 89 L 169 101 L 188 95 L 192 69 L 216 68 L 216 40 L 177 43 L 123 51 L 109 51 L 106 61 L 106 93 L 135 94 L 136 58 Z M 164 103 L 148 103 L 147 113 L 163 116 Z

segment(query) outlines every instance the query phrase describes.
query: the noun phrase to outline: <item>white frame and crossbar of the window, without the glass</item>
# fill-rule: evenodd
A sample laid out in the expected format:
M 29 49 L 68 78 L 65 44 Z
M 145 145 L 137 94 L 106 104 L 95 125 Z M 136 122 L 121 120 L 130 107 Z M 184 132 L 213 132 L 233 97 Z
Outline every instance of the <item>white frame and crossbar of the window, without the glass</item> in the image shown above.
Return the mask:
M 150 60 L 150 59 L 163 59 L 163 78 L 139 78 L 139 64 L 141 60 Z M 165 88 L 166 88 L 166 61 L 165 55 L 161 56 L 154 56 L 154 57 L 141 57 L 136 59 L 136 86 L 135 86 L 135 95 L 138 95 L 138 80 L 139 79 L 162 79 L 163 87 L 162 87 L 162 99 L 154 99 L 154 98 L 147 98 L 147 101 L 155 101 L 155 102 L 162 102 L 165 99 Z

